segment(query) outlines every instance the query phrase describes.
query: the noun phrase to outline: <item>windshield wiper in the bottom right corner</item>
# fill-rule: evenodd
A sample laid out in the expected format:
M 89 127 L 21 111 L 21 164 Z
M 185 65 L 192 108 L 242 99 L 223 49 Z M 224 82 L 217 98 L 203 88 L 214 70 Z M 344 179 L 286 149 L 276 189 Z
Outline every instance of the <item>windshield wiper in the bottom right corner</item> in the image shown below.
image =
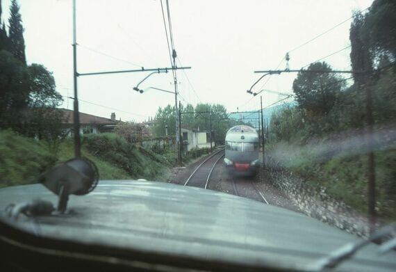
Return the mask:
M 393 234 L 396 230 L 396 223 L 387 225 L 385 227 L 381 227 L 379 230 L 374 232 L 368 237 L 368 239 L 357 241 L 354 243 L 347 243 L 345 246 L 338 248 L 333 251 L 329 256 L 324 257 L 314 264 L 311 271 L 324 271 L 325 269 L 333 269 L 341 262 L 345 261 L 352 257 L 358 250 L 367 246 L 372 241 L 377 241 L 383 237 L 387 237 L 390 234 Z M 380 253 L 385 253 L 386 251 L 395 247 L 395 239 L 388 241 L 383 244 L 383 247 L 379 249 Z

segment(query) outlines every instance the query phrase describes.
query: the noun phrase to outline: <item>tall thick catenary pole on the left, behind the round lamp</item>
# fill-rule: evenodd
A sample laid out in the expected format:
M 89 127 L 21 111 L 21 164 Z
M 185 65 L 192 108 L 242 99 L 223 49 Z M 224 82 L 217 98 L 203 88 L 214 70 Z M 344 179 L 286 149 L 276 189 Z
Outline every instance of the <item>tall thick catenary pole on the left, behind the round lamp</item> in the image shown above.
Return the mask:
M 74 157 L 81 157 L 79 98 L 77 96 L 77 38 L 76 38 L 76 0 L 73 0 L 73 84 L 74 84 Z

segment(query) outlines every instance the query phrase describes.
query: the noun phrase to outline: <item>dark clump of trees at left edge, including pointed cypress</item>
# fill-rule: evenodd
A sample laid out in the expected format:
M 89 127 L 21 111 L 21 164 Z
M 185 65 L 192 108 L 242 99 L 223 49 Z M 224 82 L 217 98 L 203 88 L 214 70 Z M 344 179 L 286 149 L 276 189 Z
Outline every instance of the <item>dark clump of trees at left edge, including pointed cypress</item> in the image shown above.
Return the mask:
M 0 3 L 1 6 L 1 3 Z M 1 13 L 0 13 L 1 16 Z M 52 73 L 43 65 L 26 67 L 22 18 L 16 0 L 11 2 L 9 35 L 0 30 L 0 128 L 44 139 L 56 150 L 63 136 L 62 102 Z

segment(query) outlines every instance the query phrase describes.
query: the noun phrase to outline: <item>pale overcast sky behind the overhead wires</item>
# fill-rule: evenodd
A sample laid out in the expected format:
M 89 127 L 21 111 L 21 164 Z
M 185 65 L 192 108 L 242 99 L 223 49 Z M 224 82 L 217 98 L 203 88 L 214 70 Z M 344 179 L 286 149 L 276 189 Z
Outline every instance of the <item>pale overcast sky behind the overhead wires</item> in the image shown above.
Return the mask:
M 21 6 L 28 63 L 53 72 L 60 94 L 73 95 L 72 0 L 18 0 Z M 165 0 L 163 0 L 165 3 Z M 3 0 L 8 20 L 10 0 Z M 159 0 L 76 0 L 78 72 L 170 67 Z M 290 51 L 290 69 L 328 56 L 349 45 L 352 10 L 372 0 L 170 0 L 170 13 L 183 104 L 224 104 L 228 111 L 258 109 L 260 97 L 246 93 L 259 74 L 274 70 Z M 6 21 L 8 24 L 8 21 Z M 333 26 L 335 29 L 315 38 Z M 295 49 L 296 47 L 299 47 Z M 295 49 L 295 50 L 293 50 Z M 349 70 L 350 49 L 324 58 L 335 69 Z M 279 68 L 284 69 L 283 61 Z M 132 90 L 148 72 L 79 77 L 80 110 L 117 119 L 142 121 L 158 106 L 174 104 L 174 96 L 158 90 Z M 296 74 L 272 76 L 258 83 L 292 93 Z M 174 90 L 172 73 L 154 74 L 140 87 Z M 264 106 L 281 97 L 263 93 Z M 89 102 L 89 103 L 88 103 Z M 100 106 L 97 106 L 97 105 Z M 72 109 L 65 98 L 63 107 Z M 106 108 L 107 107 L 107 108 Z M 108 109 L 113 108 L 113 109 Z

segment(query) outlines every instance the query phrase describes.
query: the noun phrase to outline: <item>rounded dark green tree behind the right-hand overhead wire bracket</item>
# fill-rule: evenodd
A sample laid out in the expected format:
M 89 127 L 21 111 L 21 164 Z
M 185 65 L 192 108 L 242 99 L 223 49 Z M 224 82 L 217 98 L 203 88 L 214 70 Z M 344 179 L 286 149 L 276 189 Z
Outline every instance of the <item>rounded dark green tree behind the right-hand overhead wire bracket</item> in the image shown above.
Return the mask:
M 293 92 L 301 109 L 307 111 L 308 115 L 323 116 L 329 113 L 336 104 L 341 89 L 345 85 L 340 77 L 331 74 L 331 66 L 325 62 L 312 63 L 308 71 L 299 72 L 293 81 Z

